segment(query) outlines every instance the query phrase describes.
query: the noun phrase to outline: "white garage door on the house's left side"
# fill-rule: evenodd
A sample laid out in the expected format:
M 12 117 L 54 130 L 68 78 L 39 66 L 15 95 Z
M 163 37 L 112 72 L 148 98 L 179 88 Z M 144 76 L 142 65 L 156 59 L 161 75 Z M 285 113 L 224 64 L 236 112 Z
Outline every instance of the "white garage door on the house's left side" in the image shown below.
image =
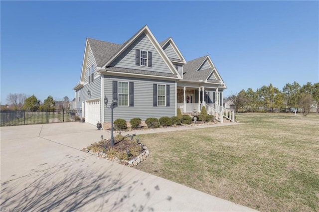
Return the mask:
M 101 122 L 100 100 L 89 100 L 85 102 L 85 122 L 96 125 Z

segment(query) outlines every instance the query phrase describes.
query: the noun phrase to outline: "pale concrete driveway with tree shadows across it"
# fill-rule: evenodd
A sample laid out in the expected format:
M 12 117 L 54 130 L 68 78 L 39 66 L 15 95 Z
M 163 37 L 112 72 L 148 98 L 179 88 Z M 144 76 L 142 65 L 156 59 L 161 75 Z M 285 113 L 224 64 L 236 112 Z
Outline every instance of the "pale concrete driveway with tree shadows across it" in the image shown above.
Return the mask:
M 0 130 L 1 211 L 254 211 L 80 151 L 110 137 L 88 123 Z

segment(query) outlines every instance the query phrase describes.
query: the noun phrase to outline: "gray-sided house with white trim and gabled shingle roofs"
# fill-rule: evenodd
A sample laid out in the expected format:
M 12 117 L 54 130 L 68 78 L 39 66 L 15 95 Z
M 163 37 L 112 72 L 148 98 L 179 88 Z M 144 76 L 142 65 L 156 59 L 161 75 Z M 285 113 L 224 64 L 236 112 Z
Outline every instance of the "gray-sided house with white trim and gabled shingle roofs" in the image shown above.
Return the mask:
M 114 119 L 174 116 L 199 112 L 206 106 L 219 121 L 226 114 L 226 85 L 210 57 L 186 62 L 171 37 L 158 42 L 149 27 L 142 27 L 123 44 L 86 39 L 76 108 L 91 124 L 110 122 L 104 97 L 117 99 Z M 228 117 L 231 119 L 231 117 Z

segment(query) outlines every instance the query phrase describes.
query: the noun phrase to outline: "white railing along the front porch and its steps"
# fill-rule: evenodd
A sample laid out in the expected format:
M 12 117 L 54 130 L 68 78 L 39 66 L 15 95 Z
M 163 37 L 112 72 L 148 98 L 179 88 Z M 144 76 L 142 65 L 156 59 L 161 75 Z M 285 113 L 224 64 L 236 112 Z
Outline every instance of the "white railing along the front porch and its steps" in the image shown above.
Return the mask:
M 200 112 L 202 106 L 206 107 L 206 111 L 210 115 L 223 123 L 223 117 L 235 122 L 235 112 L 218 104 L 199 104 L 199 103 L 177 103 L 177 108 L 180 108 L 181 112 Z

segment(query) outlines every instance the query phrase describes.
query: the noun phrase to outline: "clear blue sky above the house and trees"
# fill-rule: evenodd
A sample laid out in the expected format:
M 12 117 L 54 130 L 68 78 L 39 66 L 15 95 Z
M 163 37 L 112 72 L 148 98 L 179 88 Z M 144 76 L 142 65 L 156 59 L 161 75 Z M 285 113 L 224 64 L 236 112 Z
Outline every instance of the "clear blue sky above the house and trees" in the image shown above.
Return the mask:
M 1 104 L 75 97 L 86 37 L 123 43 L 147 24 L 185 59 L 210 55 L 228 89 L 319 81 L 319 1 L 0 1 Z

